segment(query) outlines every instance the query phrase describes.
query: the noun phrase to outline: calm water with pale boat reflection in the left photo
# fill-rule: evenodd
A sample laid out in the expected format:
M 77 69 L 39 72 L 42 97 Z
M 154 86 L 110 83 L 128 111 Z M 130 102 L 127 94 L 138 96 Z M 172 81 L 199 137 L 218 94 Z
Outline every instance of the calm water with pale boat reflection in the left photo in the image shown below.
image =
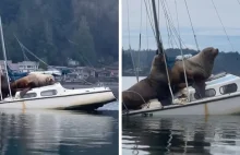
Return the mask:
M 1 155 L 107 153 L 118 154 L 117 114 L 0 111 Z

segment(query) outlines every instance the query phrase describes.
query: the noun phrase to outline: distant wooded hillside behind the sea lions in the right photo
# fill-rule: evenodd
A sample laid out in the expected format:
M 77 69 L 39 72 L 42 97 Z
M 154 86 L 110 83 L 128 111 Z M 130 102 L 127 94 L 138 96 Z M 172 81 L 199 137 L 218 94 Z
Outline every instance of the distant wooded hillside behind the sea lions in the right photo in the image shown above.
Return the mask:
M 143 50 L 143 51 L 134 51 L 133 50 L 133 59 L 135 60 L 135 63 L 137 64 L 139 60 L 139 53 L 140 53 L 140 68 L 141 68 L 141 75 L 147 75 L 149 72 L 151 63 L 154 58 L 155 51 L 153 50 Z M 180 56 L 180 49 L 167 49 L 166 53 L 168 58 L 175 58 L 176 56 Z M 192 49 L 183 49 L 183 55 L 195 55 L 197 53 L 195 50 Z M 122 50 L 122 69 L 123 75 L 134 75 L 134 72 L 132 71 L 132 60 L 131 60 L 131 53 L 129 50 Z M 219 52 L 215 60 L 215 65 L 213 73 L 218 72 L 230 72 L 237 75 L 240 75 L 240 53 L 239 52 Z

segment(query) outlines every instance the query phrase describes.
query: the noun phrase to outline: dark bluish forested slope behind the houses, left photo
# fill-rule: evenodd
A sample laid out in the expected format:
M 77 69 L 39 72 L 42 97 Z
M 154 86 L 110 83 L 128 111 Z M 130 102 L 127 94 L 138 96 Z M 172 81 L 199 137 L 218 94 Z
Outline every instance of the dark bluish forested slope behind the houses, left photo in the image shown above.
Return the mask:
M 1 0 L 8 59 L 24 60 L 16 36 L 51 65 L 67 65 L 68 59 L 94 67 L 118 61 L 118 0 Z M 36 60 L 29 55 L 27 58 Z

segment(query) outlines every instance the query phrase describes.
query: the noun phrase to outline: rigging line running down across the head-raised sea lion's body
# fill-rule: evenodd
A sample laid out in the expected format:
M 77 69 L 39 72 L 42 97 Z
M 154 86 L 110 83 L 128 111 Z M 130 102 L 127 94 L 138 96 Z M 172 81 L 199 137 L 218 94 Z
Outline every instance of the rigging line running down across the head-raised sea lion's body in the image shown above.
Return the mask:
M 177 15 L 177 25 L 178 25 L 178 33 L 179 36 L 181 37 L 181 33 L 180 33 L 180 26 L 179 26 L 179 19 L 178 19 L 178 7 L 177 7 L 177 0 L 175 0 L 175 9 L 176 9 L 176 15 Z M 179 45 L 180 45 L 180 51 L 181 51 L 181 56 L 182 56 L 182 67 L 183 67 L 183 71 L 184 71 L 184 80 L 185 80 L 185 87 L 188 91 L 188 102 L 190 102 L 190 92 L 189 92 L 189 83 L 187 80 L 187 72 L 185 72 L 185 62 L 184 62 L 184 58 L 183 58 L 183 51 L 182 51 L 182 44 L 179 40 Z

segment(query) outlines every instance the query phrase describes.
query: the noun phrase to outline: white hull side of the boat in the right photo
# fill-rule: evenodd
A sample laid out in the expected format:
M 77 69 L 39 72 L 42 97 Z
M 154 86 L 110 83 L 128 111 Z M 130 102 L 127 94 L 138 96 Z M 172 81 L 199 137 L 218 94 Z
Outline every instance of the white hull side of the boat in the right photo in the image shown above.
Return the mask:
M 154 105 L 160 105 L 155 102 Z M 171 105 L 164 108 L 153 107 L 129 111 L 124 116 L 167 116 L 167 115 L 235 115 L 240 114 L 240 94 L 225 95 L 223 97 L 202 99 L 185 105 Z

